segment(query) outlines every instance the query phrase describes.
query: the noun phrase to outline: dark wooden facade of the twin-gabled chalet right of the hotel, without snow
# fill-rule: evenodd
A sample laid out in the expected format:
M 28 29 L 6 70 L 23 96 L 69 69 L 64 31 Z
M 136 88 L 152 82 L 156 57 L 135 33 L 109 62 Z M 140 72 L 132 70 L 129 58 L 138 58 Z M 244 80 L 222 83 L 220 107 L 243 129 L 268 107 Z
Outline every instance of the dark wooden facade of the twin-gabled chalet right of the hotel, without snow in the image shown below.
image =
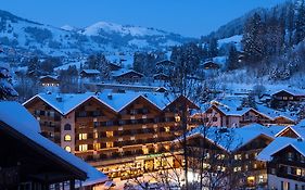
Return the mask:
M 267 165 L 265 162 L 257 161 L 256 155 L 271 141 L 270 137 L 260 135 L 242 147 L 229 151 L 219 142 L 211 141 L 203 135 L 195 135 L 188 138 L 189 165 L 200 172 L 200 163 L 204 156 L 205 175 L 217 174 L 221 176 L 219 181 L 228 183 L 226 180 L 230 180 L 230 183 L 239 188 L 266 187 Z

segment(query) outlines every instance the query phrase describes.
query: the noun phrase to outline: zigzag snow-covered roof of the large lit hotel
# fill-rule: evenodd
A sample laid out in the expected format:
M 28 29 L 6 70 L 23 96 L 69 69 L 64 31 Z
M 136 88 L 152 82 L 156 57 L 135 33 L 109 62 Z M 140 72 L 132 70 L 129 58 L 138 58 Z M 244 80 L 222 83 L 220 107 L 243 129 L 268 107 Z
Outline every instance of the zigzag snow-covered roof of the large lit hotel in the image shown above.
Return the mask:
M 160 110 L 164 110 L 174 100 L 174 96 L 166 96 L 162 92 L 113 92 L 112 90 L 103 90 L 99 93 L 39 93 L 26 101 L 24 105 L 31 100 L 39 98 L 62 115 L 66 115 L 90 98 L 93 98 L 112 109 L 114 112 L 120 112 L 139 97 L 147 99 Z

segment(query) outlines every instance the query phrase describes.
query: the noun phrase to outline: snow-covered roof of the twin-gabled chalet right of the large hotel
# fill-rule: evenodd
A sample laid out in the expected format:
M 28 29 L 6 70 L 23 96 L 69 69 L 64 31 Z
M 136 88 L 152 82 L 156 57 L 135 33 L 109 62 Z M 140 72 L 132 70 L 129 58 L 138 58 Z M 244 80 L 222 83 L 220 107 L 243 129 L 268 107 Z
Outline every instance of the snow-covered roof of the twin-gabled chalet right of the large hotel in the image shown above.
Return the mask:
M 205 128 L 205 129 L 204 129 Z M 255 138 L 264 135 L 270 139 L 274 139 L 276 131 L 274 128 L 267 128 L 259 124 L 253 124 L 241 128 L 221 128 L 221 127 L 204 127 L 200 126 L 191 130 L 187 138 L 194 136 L 204 136 L 205 138 L 223 150 L 228 152 L 238 151 L 241 147 L 247 144 Z M 181 139 L 181 137 L 179 138 Z

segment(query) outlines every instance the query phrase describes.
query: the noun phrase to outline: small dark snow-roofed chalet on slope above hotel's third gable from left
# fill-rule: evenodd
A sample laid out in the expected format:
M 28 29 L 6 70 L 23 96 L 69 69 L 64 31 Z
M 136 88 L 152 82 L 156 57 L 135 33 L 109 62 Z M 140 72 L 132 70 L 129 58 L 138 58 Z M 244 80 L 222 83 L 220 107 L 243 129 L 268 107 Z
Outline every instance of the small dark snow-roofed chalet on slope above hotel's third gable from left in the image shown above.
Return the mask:
M 124 81 L 140 81 L 140 79 L 143 78 L 144 75 L 134 69 L 122 68 L 119 71 L 112 72 L 112 77 L 118 83 L 124 83 Z

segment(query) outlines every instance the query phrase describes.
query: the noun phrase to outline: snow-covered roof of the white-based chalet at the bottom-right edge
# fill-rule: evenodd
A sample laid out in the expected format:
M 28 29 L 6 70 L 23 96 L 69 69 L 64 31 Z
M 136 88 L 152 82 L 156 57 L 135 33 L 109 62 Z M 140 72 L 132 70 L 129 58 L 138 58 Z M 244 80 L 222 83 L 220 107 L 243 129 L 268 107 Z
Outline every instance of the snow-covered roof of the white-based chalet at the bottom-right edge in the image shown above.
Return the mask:
M 258 155 L 257 160 L 269 162 L 272 160 L 272 155 L 287 147 L 293 147 L 302 155 L 305 156 L 305 141 L 293 139 L 289 137 L 277 137 L 271 143 L 269 143 Z

